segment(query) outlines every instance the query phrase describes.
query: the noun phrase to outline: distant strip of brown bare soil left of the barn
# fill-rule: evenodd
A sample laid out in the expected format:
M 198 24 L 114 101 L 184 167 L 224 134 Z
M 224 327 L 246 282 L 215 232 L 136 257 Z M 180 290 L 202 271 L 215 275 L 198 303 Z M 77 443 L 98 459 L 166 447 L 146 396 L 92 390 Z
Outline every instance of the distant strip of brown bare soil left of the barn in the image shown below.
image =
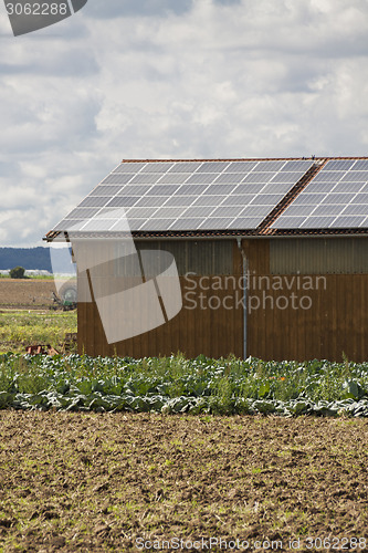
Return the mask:
M 53 304 L 53 279 L 0 279 L 0 307 L 40 307 Z

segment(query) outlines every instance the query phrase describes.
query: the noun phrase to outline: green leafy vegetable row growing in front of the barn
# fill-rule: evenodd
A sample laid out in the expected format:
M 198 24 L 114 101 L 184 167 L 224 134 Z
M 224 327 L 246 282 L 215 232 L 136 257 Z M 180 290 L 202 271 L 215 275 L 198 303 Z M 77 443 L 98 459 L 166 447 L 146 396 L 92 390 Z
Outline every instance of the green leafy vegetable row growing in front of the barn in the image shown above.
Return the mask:
M 9 353 L 0 408 L 368 416 L 368 363 Z

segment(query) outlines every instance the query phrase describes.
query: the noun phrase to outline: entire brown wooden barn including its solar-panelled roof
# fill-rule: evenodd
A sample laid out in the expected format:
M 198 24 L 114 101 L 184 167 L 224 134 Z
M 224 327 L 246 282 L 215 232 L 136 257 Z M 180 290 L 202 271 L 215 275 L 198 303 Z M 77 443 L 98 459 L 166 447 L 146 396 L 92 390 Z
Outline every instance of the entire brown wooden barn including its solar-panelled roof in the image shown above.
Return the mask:
M 172 254 L 182 305 L 167 316 L 161 289 L 156 327 L 107 338 L 88 259 L 127 229 L 137 252 Z M 124 160 L 45 237 L 65 239 L 92 244 L 81 353 L 368 359 L 368 158 Z M 129 279 L 105 261 L 106 290 Z

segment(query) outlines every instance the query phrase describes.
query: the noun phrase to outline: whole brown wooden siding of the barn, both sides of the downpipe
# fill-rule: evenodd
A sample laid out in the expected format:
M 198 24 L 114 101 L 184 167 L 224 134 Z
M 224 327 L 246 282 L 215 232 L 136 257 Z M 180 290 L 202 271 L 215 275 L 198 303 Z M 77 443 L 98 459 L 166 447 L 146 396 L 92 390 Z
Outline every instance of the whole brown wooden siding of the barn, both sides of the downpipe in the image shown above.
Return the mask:
M 233 276 L 239 283 L 242 275 L 242 258 L 236 241 L 228 243 L 233 250 Z M 340 362 L 344 352 L 355 362 L 368 359 L 368 274 L 305 275 L 313 279 L 314 288 L 316 279 L 325 279 L 318 281 L 318 290 L 303 290 L 295 274 L 281 274 L 278 278 L 286 280 L 282 290 L 275 290 L 266 280 L 269 278 L 270 282 L 274 282 L 271 279 L 275 278 L 270 270 L 270 239 L 243 240 L 242 246 L 250 271 L 246 355 L 275 361 L 326 358 Z M 200 276 L 196 279 L 199 280 Z M 209 282 L 213 284 L 213 279 L 217 278 L 210 279 L 212 280 L 207 281 L 207 284 Z M 236 285 L 235 290 L 227 285 L 225 275 L 221 279 L 223 290 L 201 291 L 204 294 L 204 304 L 211 295 L 218 296 L 220 303 L 225 296 L 230 296 L 228 305 L 233 302 L 234 309 L 229 310 L 223 305 L 218 310 L 186 309 L 188 307 L 185 296 L 187 281 L 181 276 L 185 309 L 162 326 L 116 344 L 107 344 L 96 305 L 80 303 L 80 353 L 83 351 L 90 355 L 116 353 L 141 357 L 171 355 L 180 351 L 188 357 L 196 357 L 199 354 L 220 357 L 231 353 L 242 357 L 243 309 L 239 304 L 239 298 L 243 291 L 240 285 Z M 260 279 L 263 279 L 262 284 Z M 266 300 L 263 305 L 264 292 Z M 292 304 L 288 309 L 283 309 L 282 302 L 281 309 L 277 307 L 276 302 L 281 301 L 281 296 L 291 302 L 292 294 L 296 298 L 295 302 L 299 302 L 304 296 L 309 298 L 311 309 L 301 306 L 293 309 Z M 253 309 L 257 300 L 261 306 Z M 276 309 L 273 309 L 275 305 Z

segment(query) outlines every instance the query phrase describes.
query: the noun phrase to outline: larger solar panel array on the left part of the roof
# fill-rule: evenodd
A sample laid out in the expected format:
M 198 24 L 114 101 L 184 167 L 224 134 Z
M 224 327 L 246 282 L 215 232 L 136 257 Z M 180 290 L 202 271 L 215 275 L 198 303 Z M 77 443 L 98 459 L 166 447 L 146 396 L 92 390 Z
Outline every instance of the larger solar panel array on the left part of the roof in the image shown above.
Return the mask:
M 312 160 L 123 163 L 54 230 L 252 230 L 312 166 Z

